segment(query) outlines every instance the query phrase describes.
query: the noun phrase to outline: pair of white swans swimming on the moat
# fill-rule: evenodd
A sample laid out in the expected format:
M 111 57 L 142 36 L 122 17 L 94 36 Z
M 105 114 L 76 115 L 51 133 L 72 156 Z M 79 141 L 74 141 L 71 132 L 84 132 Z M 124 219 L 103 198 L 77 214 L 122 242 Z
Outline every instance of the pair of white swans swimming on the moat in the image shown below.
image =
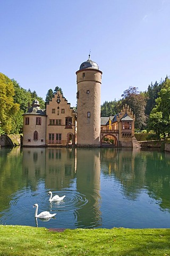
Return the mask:
M 50 195 L 49 197 L 49 202 L 56 202 L 56 201 L 62 201 L 64 199 L 65 196 L 58 196 L 55 195 L 52 197 L 52 191 L 48 192 L 48 195 Z M 38 204 L 33 205 L 33 207 L 36 207 L 36 211 L 35 211 L 35 218 L 40 218 L 40 219 L 49 219 L 49 218 L 53 218 L 57 213 L 49 213 L 47 211 L 41 212 L 38 214 Z

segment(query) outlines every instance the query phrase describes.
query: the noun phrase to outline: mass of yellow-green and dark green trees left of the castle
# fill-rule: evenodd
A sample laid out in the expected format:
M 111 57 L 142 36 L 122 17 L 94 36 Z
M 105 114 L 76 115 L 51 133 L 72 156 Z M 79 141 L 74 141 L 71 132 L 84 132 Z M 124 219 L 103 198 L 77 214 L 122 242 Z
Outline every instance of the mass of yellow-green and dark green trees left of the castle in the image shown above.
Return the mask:
M 39 101 L 40 108 L 45 109 L 45 102 L 38 97 L 36 91 L 27 91 L 17 81 L 0 73 L 0 133 L 22 132 L 22 115 L 28 111 L 28 104 L 35 99 Z

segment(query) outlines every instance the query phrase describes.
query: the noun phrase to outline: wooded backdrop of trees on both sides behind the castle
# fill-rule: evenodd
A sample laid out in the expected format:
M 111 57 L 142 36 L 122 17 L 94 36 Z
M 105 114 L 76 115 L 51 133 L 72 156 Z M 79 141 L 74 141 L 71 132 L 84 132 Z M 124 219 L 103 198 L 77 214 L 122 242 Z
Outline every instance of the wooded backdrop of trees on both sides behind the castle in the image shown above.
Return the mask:
M 58 90 L 63 94 L 61 87 L 56 86 L 54 90 L 47 91 L 44 101 L 36 91 L 25 90 L 17 81 L 0 73 L 0 134 L 22 133 L 22 115 L 27 113 L 32 101 L 37 99 L 40 108 L 45 109 L 46 104 Z M 159 83 L 151 82 L 145 92 L 139 91 L 138 87 L 130 86 L 122 93 L 121 99 L 105 101 L 101 105 L 101 116 L 114 116 L 125 104 L 129 105 L 135 114 L 136 131 L 152 132 L 155 134 L 155 139 L 169 138 L 170 79 L 168 76 Z

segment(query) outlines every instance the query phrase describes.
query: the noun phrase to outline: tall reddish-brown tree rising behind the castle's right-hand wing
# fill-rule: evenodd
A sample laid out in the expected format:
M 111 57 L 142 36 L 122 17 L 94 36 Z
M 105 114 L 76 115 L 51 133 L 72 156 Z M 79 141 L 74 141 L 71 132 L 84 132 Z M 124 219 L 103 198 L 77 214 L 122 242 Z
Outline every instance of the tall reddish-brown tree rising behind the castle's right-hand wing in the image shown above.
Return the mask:
M 122 107 L 127 104 L 135 114 L 135 128 L 142 129 L 146 126 L 146 97 L 138 91 L 138 87 L 130 86 L 122 94 Z

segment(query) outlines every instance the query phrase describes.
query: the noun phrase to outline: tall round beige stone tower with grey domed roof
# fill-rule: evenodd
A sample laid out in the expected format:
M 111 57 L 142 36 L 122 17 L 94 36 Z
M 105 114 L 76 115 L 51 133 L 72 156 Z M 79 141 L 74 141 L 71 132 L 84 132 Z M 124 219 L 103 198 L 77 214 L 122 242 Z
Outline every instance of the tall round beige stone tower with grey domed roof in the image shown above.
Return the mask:
M 101 75 L 96 62 L 89 59 L 77 74 L 77 146 L 100 146 Z

